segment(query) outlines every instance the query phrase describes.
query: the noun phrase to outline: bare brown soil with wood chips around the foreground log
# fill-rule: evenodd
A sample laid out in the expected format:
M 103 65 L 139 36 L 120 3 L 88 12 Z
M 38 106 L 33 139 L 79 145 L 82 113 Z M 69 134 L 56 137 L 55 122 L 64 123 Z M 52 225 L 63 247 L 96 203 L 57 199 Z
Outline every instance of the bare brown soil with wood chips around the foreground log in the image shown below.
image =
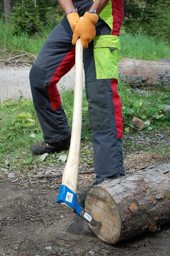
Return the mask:
M 3 71 L 6 72 L 5 67 Z M 17 68 L 15 76 L 20 77 L 22 71 L 22 67 Z M 18 78 L 17 81 L 20 87 L 21 84 L 26 86 Z M 133 137 L 125 139 L 135 140 Z M 169 143 L 169 137 L 161 136 L 161 139 Z M 148 139 L 137 140 L 151 143 Z M 147 152 L 128 149 L 124 149 L 124 156 L 127 175 L 146 166 L 170 161 L 167 156 L 151 156 Z M 37 167 L 37 173 L 39 171 L 43 173 L 44 170 Z M 94 177 L 93 166 L 90 173 L 79 167 L 77 196 L 91 185 Z M 0 176 L 0 256 L 170 255 L 170 223 L 159 227 L 156 232 L 143 233 L 115 245 L 102 242 L 92 233 L 87 222 L 57 204 L 61 182 L 62 174 L 29 176 L 25 180 L 9 179 L 6 174 Z

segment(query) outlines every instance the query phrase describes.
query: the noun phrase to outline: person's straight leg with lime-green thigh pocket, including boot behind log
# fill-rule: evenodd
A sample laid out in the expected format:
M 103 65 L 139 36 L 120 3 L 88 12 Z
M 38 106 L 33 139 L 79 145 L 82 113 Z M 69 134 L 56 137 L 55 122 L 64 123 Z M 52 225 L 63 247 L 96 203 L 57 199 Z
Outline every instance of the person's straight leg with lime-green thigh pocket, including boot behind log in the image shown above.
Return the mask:
M 117 49 L 115 49 L 116 43 L 114 42 L 117 38 L 111 36 L 110 42 L 110 37 L 108 37 L 110 32 L 107 24 L 99 20 L 96 24 L 96 41 L 101 42 L 97 49 L 99 56 L 96 59 L 94 57 L 97 43 L 93 41 L 83 51 L 85 89 L 93 134 L 96 174 L 92 186 L 101 183 L 104 179 L 117 179 L 125 175 L 122 155 L 122 105 L 117 93 L 118 80 L 108 78 L 112 75 L 117 76 Z M 102 56 L 100 51 L 103 51 Z M 80 194 L 80 205 L 84 206 L 90 188 Z

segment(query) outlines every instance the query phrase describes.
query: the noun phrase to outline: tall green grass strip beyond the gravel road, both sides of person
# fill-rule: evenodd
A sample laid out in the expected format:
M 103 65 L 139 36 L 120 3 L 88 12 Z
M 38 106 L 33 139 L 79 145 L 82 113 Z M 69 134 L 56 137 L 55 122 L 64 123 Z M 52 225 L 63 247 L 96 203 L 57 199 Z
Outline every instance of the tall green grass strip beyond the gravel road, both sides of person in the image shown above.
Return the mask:
M 24 32 L 14 35 L 11 26 L 0 20 L 1 54 L 21 50 L 37 55 L 49 33 L 50 31 L 43 31 L 43 33 L 32 37 L 29 37 Z M 168 43 L 157 41 L 156 38 L 141 33 L 136 33 L 135 36 L 125 32 L 120 34 L 120 47 L 119 60 L 122 58 L 153 61 L 164 58 L 170 59 L 170 46 Z

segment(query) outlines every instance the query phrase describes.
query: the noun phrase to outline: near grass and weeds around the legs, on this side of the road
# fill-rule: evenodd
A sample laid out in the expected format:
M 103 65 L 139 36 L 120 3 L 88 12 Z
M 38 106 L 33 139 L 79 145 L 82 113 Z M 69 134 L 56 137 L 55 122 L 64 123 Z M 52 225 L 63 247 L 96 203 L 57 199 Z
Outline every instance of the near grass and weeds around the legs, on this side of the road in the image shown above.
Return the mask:
M 145 137 L 153 137 L 155 130 L 165 132 L 167 135 L 170 133 L 170 113 L 167 112 L 167 114 L 163 114 L 162 110 L 162 105 L 168 104 L 169 102 L 167 97 L 164 97 L 165 95 L 169 95 L 169 92 L 165 91 L 160 96 L 160 92 L 158 92 L 156 88 L 152 94 L 141 98 L 133 89 L 128 88 L 127 90 L 127 86 L 123 82 L 119 83 L 118 90 L 122 98 L 124 134 L 138 136 L 140 133 Z M 74 100 L 73 91 L 71 89 L 68 91 L 63 90 L 61 97 L 62 105 L 71 127 Z M 150 102 L 149 109 L 148 105 L 146 105 L 147 102 Z M 48 165 L 59 166 L 62 164 L 62 162 L 59 161 L 59 156 L 60 154 L 68 155 L 68 152 L 63 151 L 60 154 L 48 154 L 45 159 L 30 154 L 30 145 L 43 140 L 42 130 L 32 100 L 23 98 L 15 100 L 9 99 L 1 103 L 0 107 L 0 168 L 6 167 L 8 171 L 16 170 L 18 175 L 24 177 L 25 174 L 34 173 L 34 166 L 36 165 L 45 166 L 48 163 Z M 144 130 L 139 131 L 131 125 L 131 119 L 134 114 L 146 121 Z M 164 115 L 164 119 L 159 117 L 162 115 Z M 84 148 L 85 145 L 92 145 L 92 134 L 88 121 L 88 103 L 85 99 L 85 91 L 83 91 L 81 143 L 81 148 Z M 124 146 L 130 149 L 134 147 L 134 143 L 130 145 L 128 142 L 125 142 Z M 142 149 L 142 144 L 136 145 L 137 151 L 139 148 Z M 168 155 L 170 146 L 168 147 L 167 145 L 165 150 L 162 143 L 161 147 L 155 145 L 154 147 L 147 147 L 145 149 L 147 151 L 149 150 L 152 154 Z M 92 147 L 83 150 L 81 152 L 81 158 L 87 164 L 93 164 Z

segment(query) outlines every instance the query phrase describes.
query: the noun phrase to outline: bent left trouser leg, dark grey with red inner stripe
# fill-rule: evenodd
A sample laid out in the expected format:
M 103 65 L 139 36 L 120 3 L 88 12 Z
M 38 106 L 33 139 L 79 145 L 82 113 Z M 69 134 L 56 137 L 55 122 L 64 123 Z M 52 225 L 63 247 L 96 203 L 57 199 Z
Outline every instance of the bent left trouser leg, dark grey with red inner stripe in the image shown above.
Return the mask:
M 46 142 L 59 142 L 71 135 L 56 83 L 75 63 L 72 30 L 65 17 L 46 39 L 30 71 L 30 85 Z

